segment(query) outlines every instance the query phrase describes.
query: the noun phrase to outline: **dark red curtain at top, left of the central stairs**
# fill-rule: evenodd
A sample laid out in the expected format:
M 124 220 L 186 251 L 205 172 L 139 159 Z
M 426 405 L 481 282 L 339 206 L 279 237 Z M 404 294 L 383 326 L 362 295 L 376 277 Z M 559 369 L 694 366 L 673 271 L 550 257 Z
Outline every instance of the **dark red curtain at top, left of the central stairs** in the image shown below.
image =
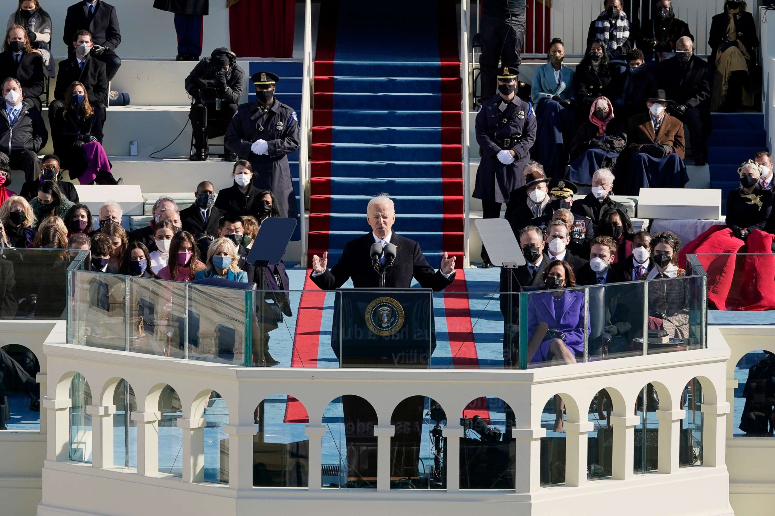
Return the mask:
M 229 8 L 232 52 L 239 57 L 293 57 L 295 0 L 239 0 Z

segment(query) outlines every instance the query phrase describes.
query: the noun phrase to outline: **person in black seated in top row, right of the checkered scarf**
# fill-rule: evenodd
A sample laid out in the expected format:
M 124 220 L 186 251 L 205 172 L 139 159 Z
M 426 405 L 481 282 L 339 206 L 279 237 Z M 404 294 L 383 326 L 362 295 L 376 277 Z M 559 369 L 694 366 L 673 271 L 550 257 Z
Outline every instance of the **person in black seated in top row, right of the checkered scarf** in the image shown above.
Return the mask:
M 688 36 L 694 40 L 687 22 L 676 18 L 672 0 L 656 0 L 652 19 L 642 23 L 636 31 L 636 44 L 646 56 L 646 66 L 656 69 L 656 64 L 676 55 L 678 39 Z

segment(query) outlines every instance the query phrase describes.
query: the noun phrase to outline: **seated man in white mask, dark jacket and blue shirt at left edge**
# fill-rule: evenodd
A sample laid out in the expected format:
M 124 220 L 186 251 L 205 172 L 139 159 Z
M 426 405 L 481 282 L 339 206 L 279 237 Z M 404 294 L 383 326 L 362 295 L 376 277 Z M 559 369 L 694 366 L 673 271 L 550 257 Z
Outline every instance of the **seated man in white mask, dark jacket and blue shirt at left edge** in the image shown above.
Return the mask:
M 2 84 L 5 116 L 0 117 L 0 162 L 24 171 L 26 181 L 40 176 L 38 152 L 48 142 L 48 131 L 40 111 L 24 104 L 19 81 L 9 77 Z

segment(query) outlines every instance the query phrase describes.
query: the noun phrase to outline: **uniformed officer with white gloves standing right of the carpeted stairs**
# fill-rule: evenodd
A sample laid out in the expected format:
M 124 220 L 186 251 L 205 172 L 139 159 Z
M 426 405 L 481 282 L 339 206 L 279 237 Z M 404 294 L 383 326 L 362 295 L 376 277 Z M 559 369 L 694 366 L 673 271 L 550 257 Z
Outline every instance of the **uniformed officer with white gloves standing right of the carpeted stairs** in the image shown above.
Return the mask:
M 532 104 L 517 96 L 517 75 L 503 68 L 498 73 L 498 94 L 482 102 L 477 114 L 477 143 L 482 157 L 477 169 L 474 197 L 482 201 L 483 217 L 501 216 L 514 190 L 525 184 L 522 169 L 536 141 L 536 114 Z M 482 248 L 482 267 L 491 268 Z

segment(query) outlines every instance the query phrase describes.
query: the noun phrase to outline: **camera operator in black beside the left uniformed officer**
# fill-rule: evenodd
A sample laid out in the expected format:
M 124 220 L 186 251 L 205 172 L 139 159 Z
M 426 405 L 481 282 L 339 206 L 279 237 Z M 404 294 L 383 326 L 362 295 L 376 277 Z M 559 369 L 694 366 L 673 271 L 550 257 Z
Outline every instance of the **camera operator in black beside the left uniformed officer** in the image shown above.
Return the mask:
M 229 121 L 237 112 L 245 73 L 237 66 L 236 60 L 236 55 L 229 49 L 217 48 L 211 56 L 199 61 L 186 77 L 186 91 L 192 97 L 191 112 L 188 114 L 194 132 L 191 161 L 207 160 L 207 139 L 224 135 Z M 237 157 L 225 150 L 224 159 L 234 162 Z

